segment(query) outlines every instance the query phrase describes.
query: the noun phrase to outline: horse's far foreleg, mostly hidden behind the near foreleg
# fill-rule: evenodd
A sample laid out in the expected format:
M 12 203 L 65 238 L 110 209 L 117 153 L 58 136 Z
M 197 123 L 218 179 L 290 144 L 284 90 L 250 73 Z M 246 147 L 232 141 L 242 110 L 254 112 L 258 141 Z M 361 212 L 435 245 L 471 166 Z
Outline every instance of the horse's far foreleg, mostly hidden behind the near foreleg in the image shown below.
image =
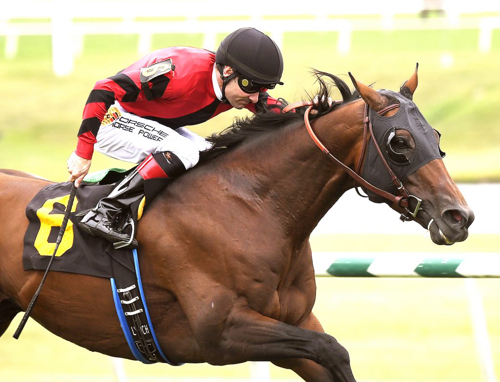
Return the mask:
M 323 327 L 312 313 L 309 314 L 309 317 L 304 322 L 302 322 L 299 327 L 324 333 Z M 331 373 L 325 367 L 317 364 L 314 361 L 311 361 L 310 359 L 282 359 L 272 361 L 272 363 L 274 363 L 276 366 L 294 371 L 307 382 L 333 380 Z

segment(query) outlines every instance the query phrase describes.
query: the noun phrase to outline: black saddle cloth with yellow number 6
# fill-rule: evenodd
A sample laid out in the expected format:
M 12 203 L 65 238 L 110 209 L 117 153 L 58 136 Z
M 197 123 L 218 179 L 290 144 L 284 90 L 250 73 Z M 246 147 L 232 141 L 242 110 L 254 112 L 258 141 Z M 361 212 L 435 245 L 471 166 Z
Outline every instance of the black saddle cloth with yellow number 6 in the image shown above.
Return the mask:
M 114 249 L 109 241 L 81 231 L 78 222 L 83 216 L 77 215 L 93 208 L 102 197 L 109 194 L 115 182 L 128 172 L 110 171 L 99 181 L 84 181 L 76 189 L 73 208 L 51 270 L 111 277 L 111 261 L 114 259 L 134 271 L 130 249 Z M 24 234 L 22 253 L 25 270 L 46 269 L 55 247 L 70 190 L 70 182 L 50 184 L 43 187 L 26 206 L 29 224 Z M 137 210 L 137 205 L 132 206 L 132 211 Z M 135 220 L 136 217 L 135 212 Z

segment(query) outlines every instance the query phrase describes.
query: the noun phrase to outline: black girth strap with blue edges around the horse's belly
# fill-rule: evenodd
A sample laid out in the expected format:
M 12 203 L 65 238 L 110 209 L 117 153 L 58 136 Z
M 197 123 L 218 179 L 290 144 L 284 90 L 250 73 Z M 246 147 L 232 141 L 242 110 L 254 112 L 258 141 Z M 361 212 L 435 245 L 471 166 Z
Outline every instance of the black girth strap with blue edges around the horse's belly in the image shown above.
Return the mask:
M 130 351 L 142 363 L 166 362 L 174 366 L 181 365 L 183 363 L 169 361 L 161 351 L 147 311 L 136 249 L 132 250 L 132 255 L 135 276 L 131 279 L 131 271 L 123 272 L 120 269 L 119 272 L 113 272 L 114 277 L 110 278 L 114 307 Z

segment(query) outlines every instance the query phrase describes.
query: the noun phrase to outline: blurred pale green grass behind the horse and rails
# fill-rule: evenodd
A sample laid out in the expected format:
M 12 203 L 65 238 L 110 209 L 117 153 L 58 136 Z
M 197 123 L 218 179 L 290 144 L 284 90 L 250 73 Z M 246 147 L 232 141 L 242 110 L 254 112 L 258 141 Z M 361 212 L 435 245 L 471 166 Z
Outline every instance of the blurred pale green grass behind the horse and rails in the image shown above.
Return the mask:
M 219 35 L 220 38 L 223 35 Z M 492 50 L 480 54 L 477 30 L 354 31 L 349 54 L 338 55 L 338 35 L 285 33 L 284 85 L 272 95 L 288 100 L 314 93 L 307 73 L 315 67 L 342 76 L 352 72 L 375 88 L 397 89 L 419 62 L 414 100 L 429 123 L 439 129 L 445 164 L 459 181 L 499 180 L 500 33 Z M 66 179 L 65 161 L 76 143 L 81 110 L 93 83 L 138 58 L 133 35 L 89 36 L 67 77 L 52 73 L 48 37 L 19 39 L 15 58 L 3 56 L 0 37 L 0 167 L 16 168 L 53 180 Z M 153 48 L 200 46 L 198 34 L 155 35 Z M 215 47 L 214 47 L 215 48 Z M 443 66 L 443 54 L 454 63 Z M 227 112 L 196 126 L 207 135 L 229 125 Z M 118 163 L 94 155 L 92 169 Z M 389 241 L 390 240 L 390 241 Z M 327 235 L 312 238 L 313 250 L 497 251 L 496 235 L 474 235 L 464 243 L 436 248 L 413 235 Z M 396 248 L 396 249 L 394 249 Z M 472 337 L 463 280 L 319 278 L 314 312 L 325 330 L 351 355 L 359 381 L 453 381 L 483 379 Z M 496 374 L 500 375 L 500 280 L 477 280 L 486 309 Z M 11 338 L 20 315 L 0 339 L 0 381 L 113 381 L 108 357 L 89 352 L 47 332 L 29 320 L 19 340 Z M 168 381 L 203 377 L 232 380 L 250 375 L 249 363 L 215 367 L 172 367 L 124 361 L 129 380 Z M 287 370 L 271 368 L 273 380 L 298 380 Z

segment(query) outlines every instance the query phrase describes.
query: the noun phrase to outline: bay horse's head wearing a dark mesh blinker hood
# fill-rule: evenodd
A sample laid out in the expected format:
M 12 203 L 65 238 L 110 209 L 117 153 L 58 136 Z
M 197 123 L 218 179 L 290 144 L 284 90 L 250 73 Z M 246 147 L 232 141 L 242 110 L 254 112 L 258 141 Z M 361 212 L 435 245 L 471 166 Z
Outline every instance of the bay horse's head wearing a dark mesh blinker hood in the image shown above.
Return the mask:
M 399 92 L 375 91 L 349 73 L 367 105 L 370 124 L 371 139 L 359 161 L 363 163 L 361 175 L 394 195 L 406 193 L 409 214 L 403 212 L 403 219 L 427 228 L 434 243 L 449 245 L 467 238 L 474 214 L 443 164 L 439 132 L 412 100 L 418 84 L 417 69 L 418 64 Z M 387 201 L 370 189 L 364 190 L 371 201 Z M 401 211 L 399 205 L 391 206 Z

